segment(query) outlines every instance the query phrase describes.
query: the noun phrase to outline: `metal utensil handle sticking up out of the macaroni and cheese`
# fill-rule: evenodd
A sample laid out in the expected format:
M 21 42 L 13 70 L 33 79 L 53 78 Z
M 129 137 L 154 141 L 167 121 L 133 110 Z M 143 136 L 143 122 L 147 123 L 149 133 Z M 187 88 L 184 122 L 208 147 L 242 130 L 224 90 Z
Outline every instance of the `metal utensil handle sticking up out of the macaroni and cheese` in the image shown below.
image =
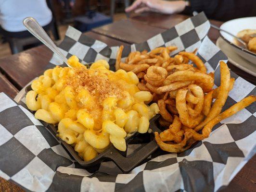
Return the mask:
M 53 43 L 50 36 L 45 32 L 45 30 L 38 24 L 37 20 L 33 17 L 27 17 L 23 20 L 23 24 L 26 29 L 35 37 L 39 39 L 46 47 L 50 48 L 53 53 L 56 53 L 68 67 L 71 67 L 67 63 L 67 58 L 62 54 L 62 52 Z

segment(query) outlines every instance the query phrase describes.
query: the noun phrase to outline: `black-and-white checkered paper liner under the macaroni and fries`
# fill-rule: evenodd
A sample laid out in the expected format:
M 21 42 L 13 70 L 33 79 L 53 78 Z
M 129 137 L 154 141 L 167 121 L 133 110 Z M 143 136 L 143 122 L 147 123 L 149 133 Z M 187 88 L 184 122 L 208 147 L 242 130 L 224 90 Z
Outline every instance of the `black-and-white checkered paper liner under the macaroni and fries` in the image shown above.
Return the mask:
M 215 84 L 220 84 L 219 60 L 227 57 L 206 36 L 209 22 L 200 13 L 166 32 L 141 43 L 126 46 L 123 58 L 130 51 L 152 50 L 160 46 L 177 46 L 179 51 L 198 48 L 198 56 L 208 72 L 215 71 Z M 60 50 L 68 58 L 78 56 L 82 63 L 108 60 L 112 69 L 118 47 L 84 36 L 69 27 Z M 53 56 L 48 68 L 63 64 Z M 223 110 L 246 96 L 256 95 L 256 86 L 235 73 Z M 111 161 L 83 168 L 74 161 L 56 138 L 35 119 L 24 105 L 0 93 L 0 177 L 11 180 L 26 191 L 218 191 L 229 184 L 246 162 L 255 154 L 256 104 L 244 108 L 214 127 L 210 137 L 199 141 L 187 151 L 167 154 L 160 149 L 128 174 Z M 217 129 L 218 128 L 218 129 Z M 126 156 L 144 145 L 145 134 L 138 142 L 128 144 Z

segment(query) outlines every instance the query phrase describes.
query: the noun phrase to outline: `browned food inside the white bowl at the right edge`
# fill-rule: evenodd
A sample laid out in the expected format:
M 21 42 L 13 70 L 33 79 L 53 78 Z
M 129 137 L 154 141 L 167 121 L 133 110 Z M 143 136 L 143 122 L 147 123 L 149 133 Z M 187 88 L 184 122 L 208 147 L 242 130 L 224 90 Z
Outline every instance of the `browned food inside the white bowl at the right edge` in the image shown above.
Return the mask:
M 256 53 L 256 29 L 244 29 L 238 32 L 237 37 L 241 38 L 247 45 L 247 48 Z M 241 43 L 234 39 L 234 43 L 237 46 L 241 46 Z

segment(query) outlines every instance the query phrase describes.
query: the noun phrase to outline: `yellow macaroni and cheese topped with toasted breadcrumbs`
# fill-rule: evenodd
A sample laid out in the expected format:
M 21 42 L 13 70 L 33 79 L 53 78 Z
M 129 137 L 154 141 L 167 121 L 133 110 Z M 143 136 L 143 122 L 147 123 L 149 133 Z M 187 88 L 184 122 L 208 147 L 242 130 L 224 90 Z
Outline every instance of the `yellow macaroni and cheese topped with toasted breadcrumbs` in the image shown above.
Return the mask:
M 78 155 L 89 161 L 110 143 L 126 151 L 128 133 L 145 133 L 149 120 L 158 112 L 153 95 L 140 91 L 133 72 L 109 70 L 105 60 L 89 69 L 76 56 L 69 67 L 55 67 L 31 84 L 26 105 L 35 117 L 58 126 L 58 136 L 71 144 Z

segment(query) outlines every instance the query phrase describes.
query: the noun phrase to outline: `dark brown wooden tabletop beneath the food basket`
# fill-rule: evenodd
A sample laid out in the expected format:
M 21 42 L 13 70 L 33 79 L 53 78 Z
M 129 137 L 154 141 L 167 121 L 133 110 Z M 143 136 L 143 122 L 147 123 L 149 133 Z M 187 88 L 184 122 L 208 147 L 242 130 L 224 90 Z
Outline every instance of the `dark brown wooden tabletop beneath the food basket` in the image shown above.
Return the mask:
M 113 24 L 108 24 L 86 35 L 103 41 L 109 46 L 129 45 L 141 43 L 148 38 L 165 31 L 187 19 L 186 15 L 161 15 L 155 13 L 145 13 L 136 15 L 128 20 L 122 20 Z M 220 26 L 222 22 L 210 21 Z M 215 43 L 219 33 L 215 29 L 210 29 L 209 38 Z M 41 74 L 48 65 L 52 56 L 51 51 L 45 46 L 32 48 L 22 53 L 0 59 L 0 92 L 5 92 L 14 97 L 18 90 L 22 89 L 33 78 Z M 233 72 L 242 76 L 249 82 L 256 84 L 256 78 L 229 63 Z M 254 156 L 243 169 L 230 182 L 225 189 L 228 192 L 256 191 L 256 156 Z M 19 187 L 0 178 L 0 191 L 21 192 Z

